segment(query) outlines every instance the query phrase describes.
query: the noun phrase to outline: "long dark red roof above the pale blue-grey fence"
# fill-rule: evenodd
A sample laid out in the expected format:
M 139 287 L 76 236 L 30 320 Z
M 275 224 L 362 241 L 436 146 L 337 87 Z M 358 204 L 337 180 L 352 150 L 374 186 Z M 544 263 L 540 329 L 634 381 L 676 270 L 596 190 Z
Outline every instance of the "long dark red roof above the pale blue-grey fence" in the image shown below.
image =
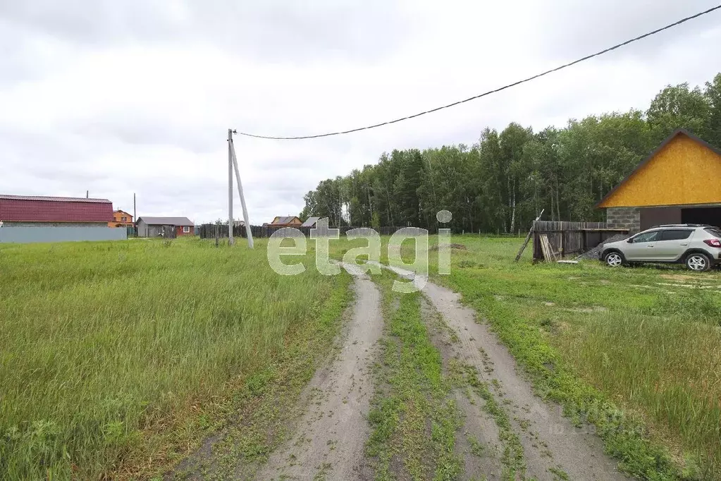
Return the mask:
M 0 195 L 0 221 L 111 222 L 107 199 Z

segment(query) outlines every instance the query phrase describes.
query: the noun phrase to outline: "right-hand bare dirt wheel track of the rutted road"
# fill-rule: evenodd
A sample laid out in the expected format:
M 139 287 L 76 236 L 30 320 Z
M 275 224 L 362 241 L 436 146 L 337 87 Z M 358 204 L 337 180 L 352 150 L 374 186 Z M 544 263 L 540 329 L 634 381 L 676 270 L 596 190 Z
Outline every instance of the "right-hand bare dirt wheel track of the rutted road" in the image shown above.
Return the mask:
M 403 278 L 415 277 L 408 270 L 383 267 Z M 565 473 L 571 480 L 627 480 L 604 454 L 601 438 L 575 428 L 559 405 L 534 394 L 531 383 L 518 373 L 516 359 L 487 325 L 476 322 L 476 313 L 461 304 L 459 294 L 430 282 L 423 294 L 458 336 L 454 356 L 473 366 L 482 381 L 500 387 L 494 394 L 508 410 L 523 446 L 526 477 L 557 480 Z

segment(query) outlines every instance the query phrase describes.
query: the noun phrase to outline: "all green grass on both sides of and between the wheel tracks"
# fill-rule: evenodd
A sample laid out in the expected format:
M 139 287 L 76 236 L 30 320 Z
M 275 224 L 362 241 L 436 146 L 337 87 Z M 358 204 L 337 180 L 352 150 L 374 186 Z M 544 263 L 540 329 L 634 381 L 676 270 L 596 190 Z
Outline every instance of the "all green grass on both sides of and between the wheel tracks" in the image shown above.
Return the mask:
M 467 250 L 454 250 L 448 276 L 433 274 L 431 252 L 434 280 L 487 319 L 541 396 L 596 426 L 622 469 L 721 477 L 721 273 L 531 265 L 529 252 L 513 262 L 521 239 L 453 242 Z M 331 254 L 361 244 L 332 242 Z M 252 418 L 267 384 L 309 379 L 312 359 L 300 359 L 337 332 L 348 279 L 319 275 L 312 250 L 301 257 L 305 273 L 276 275 L 265 245 L 0 246 L 0 477 L 146 479 L 231 412 Z M 423 347 L 413 337 L 424 329 L 417 296 L 399 302 L 386 353 Z M 386 373 L 399 399 L 415 395 L 404 384 L 410 361 Z M 429 412 L 441 412 L 446 387 L 434 373 L 415 374 L 438 394 Z

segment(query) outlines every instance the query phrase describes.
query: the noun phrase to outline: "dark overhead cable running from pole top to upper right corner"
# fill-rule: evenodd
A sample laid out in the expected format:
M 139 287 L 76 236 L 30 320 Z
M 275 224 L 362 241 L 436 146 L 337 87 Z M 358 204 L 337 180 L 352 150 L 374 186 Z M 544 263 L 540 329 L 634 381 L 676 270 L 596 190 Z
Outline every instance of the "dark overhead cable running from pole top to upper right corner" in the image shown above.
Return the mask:
M 643 35 L 639 35 L 638 37 L 634 37 L 634 38 L 632 38 L 631 40 L 626 40 L 626 41 L 623 42 L 623 43 L 616 44 L 616 45 L 614 45 L 613 47 L 606 48 L 606 49 L 604 49 L 604 50 L 601 50 L 600 52 L 592 53 L 592 54 L 590 54 L 590 55 L 588 55 L 588 56 L 579 58 L 578 60 L 575 60 L 575 61 L 572 61 L 572 62 L 569 62 L 569 63 L 564 63 L 562 66 L 557 66 L 555 69 L 551 69 L 551 70 L 547 70 L 547 71 L 541 72 L 540 74 L 536 74 L 536 75 L 534 75 L 534 76 L 530 76 L 530 77 L 528 77 L 527 79 L 515 81 L 515 82 L 513 82 L 513 84 L 504 85 L 503 87 L 498 87 L 497 89 L 489 90 L 488 92 L 483 92 L 482 94 L 479 94 L 479 95 L 474 95 L 474 97 L 469 97 L 469 98 L 467 98 L 467 99 L 465 99 L 465 100 L 459 100 L 458 102 L 453 102 L 453 103 L 448 104 L 448 105 L 442 105 L 441 107 L 435 107 L 434 109 L 425 110 L 425 112 L 418 112 L 418 113 L 413 114 L 413 115 L 408 115 L 407 117 L 397 118 L 397 119 L 395 119 L 395 120 L 388 120 L 387 122 L 376 123 L 376 124 L 374 124 L 374 125 L 367 125 L 366 127 L 351 128 L 351 129 L 348 130 L 348 131 L 319 133 L 319 134 L 314 135 L 314 136 L 297 136 L 297 137 L 260 136 L 260 135 L 257 135 L 257 134 L 255 134 L 255 133 L 247 133 L 247 132 L 238 132 L 238 135 L 247 136 L 247 137 L 255 137 L 255 138 L 270 138 L 270 139 L 273 139 L 273 140 L 280 140 L 280 141 L 295 141 L 295 140 L 301 140 L 301 139 L 304 139 L 304 138 L 320 138 L 320 137 L 330 137 L 330 136 L 341 136 L 341 135 L 343 135 L 343 134 L 345 134 L 345 133 L 353 133 L 353 132 L 358 132 L 358 131 L 367 131 L 367 130 L 369 130 L 369 129 L 371 129 L 371 128 L 382 127 L 382 126 L 384 126 L 384 125 L 390 125 L 390 124 L 392 124 L 392 123 L 402 122 L 403 120 L 410 120 L 410 119 L 412 119 L 412 118 L 420 117 L 421 115 L 425 115 L 425 114 L 429 114 L 429 113 L 433 113 L 433 112 L 438 112 L 438 110 L 447 109 L 447 108 L 449 108 L 449 107 L 455 107 L 456 105 L 460 105 L 460 104 L 463 104 L 463 103 L 465 103 L 465 102 L 470 102 L 471 100 L 476 100 L 476 99 L 479 99 L 479 98 L 481 98 L 481 97 L 486 97 L 487 95 L 495 94 L 496 92 L 500 92 L 500 91 L 505 90 L 505 89 L 510 89 L 510 87 L 516 87 L 516 85 L 525 84 L 525 83 L 528 82 L 528 81 L 538 79 L 538 78 L 540 78 L 540 77 L 542 77 L 542 76 L 544 76 L 544 75 L 552 74 L 553 72 L 557 72 L 557 71 L 562 70 L 562 69 L 566 69 L 567 67 L 573 66 L 573 65 L 575 65 L 576 63 L 581 63 L 581 62 L 583 62 L 583 61 L 587 61 L 587 60 L 589 60 L 590 58 L 594 58 L 594 57 L 601 56 L 601 55 L 603 55 L 604 53 L 609 53 L 609 52 L 611 52 L 612 50 L 616 50 L 616 49 L 618 49 L 618 48 L 622 48 L 622 47 L 624 47 L 624 46 L 626 46 L 626 45 L 629 45 L 630 43 L 634 43 L 634 42 L 637 42 L 638 40 L 642 40 L 642 39 L 644 39 L 644 38 L 646 38 L 646 37 L 650 37 L 651 35 L 655 35 L 655 34 L 657 34 L 657 33 L 659 33 L 659 32 L 663 32 L 663 30 L 668 30 L 668 29 L 670 29 L 670 28 L 676 27 L 676 26 L 678 26 L 678 25 L 681 25 L 681 24 L 684 23 L 684 22 L 688 22 L 689 20 L 696 19 L 696 18 L 698 18 L 698 17 L 702 17 L 703 15 L 709 14 L 709 13 L 711 13 L 711 12 L 714 12 L 715 10 L 718 10 L 718 9 L 721 9 L 721 5 L 717 5 L 717 6 L 714 6 L 714 7 L 710 8 L 710 9 L 708 9 L 708 10 L 704 10 L 704 12 L 699 12 L 699 13 L 697 13 L 697 14 L 695 14 L 695 15 L 691 15 L 691 17 L 686 17 L 686 18 L 684 18 L 684 19 L 680 19 L 680 20 L 678 20 L 678 22 L 673 22 L 673 23 L 671 23 L 671 24 L 669 24 L 669 25 L 666 25 L 665 27 L 661 27 L 661 28 L 659 28 L 659 29 L 657 29 L 657 30 L 653 30 L 653 32 L 648 32 L 648 33 L 645 33 L 645 34 L 643 34 Z

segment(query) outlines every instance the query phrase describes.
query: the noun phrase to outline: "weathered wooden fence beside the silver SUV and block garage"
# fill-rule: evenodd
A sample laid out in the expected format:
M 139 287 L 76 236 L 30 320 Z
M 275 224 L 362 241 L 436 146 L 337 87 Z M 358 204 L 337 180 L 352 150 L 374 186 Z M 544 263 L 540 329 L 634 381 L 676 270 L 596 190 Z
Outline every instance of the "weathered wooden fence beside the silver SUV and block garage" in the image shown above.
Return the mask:
M 580 255 L 616 234 L 628 234 L 628 229 L 609 229 L 606 222 L 536 221 L 534 224 L 534 261 L 544 260 L 541 235 L 559 257 Z

